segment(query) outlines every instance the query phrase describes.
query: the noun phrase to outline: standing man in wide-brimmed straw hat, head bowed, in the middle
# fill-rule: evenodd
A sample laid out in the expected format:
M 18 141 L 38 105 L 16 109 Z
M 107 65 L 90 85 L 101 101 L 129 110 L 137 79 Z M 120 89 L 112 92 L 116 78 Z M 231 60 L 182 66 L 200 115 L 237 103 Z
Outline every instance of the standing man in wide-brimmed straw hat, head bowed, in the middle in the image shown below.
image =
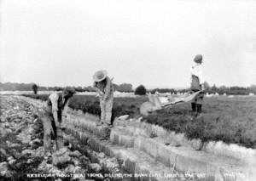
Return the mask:
M 111 116 L 113 107 L 113 83 L 112 79 L 108 77 L 107 71 L 96 71 L 93 76 L 94 88 L 99 93 L 100 105 L 101 105 L 101 122 L 98 122 L 98 126 L 105 123 L 111 126 Z

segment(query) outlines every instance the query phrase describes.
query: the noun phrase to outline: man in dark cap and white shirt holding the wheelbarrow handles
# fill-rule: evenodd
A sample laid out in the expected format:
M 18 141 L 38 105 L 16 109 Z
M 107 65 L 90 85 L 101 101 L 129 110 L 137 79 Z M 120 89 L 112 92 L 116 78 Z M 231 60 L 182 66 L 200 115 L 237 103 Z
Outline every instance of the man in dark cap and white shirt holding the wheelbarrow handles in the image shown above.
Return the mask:
M 202 73 L 202 55 L 197 54 L 190 69 L 191 72 L 191 91 L 197 92 L 204 89 L 204 79 Z M 200 93 L 191 103 L 192 111 L 201 113 L 204 94 Z

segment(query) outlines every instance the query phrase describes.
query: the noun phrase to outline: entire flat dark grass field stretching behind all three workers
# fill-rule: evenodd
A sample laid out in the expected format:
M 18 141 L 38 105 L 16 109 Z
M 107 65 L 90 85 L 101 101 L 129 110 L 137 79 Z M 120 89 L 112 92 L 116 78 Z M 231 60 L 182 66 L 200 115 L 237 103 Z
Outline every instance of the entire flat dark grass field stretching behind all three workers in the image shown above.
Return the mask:
M 34 99 L 46 100 L 48 95 L 26 95 Z M 137 116 L 139 105 L 147 97 L 115 98 L 113 118 L 121 115 Z M 74 110 L 83 110 L 100 115 L 99 101 L 95 96 L 75 95 L 69 103 Z M 256 97 L 219 96 L 206 98 L 201 116 L 192 116 L 189 104 L 177 105 L 168 110 L 152 113 L 144 122 L 157 124 L 176 133 L 185 133 L 188 139 L 203 141 L 222 140 L 256 148 Z

